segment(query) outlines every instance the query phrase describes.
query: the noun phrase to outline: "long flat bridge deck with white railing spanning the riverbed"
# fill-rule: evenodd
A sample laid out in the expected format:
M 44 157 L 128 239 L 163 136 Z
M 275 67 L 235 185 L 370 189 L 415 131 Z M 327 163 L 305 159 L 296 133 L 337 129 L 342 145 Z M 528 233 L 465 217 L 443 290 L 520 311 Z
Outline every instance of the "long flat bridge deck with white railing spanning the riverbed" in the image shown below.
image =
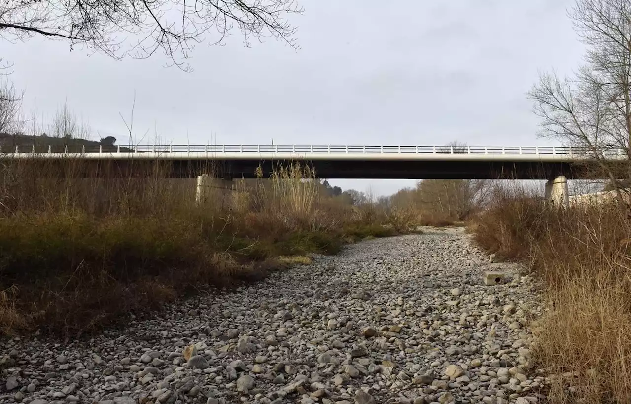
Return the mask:
M 171 177 L 212 171 L 225 178 L 251 178 L 257 172 L 267 176 L 278 165 L 302 162 L 318 177 L 331 179 L 584 178 L 589 173 L 589 155 L 582 148 L 554 146 L 33 145 L 0 150 L 0 160 L 35 164 L 75 159 L 86 167 L 103 167 L 105 162 L 115 162 L 122 174 L 137 170 L 142 162 L 168 162 Z M 609 148 L 602 155 L 627 158 L 619 148 Z

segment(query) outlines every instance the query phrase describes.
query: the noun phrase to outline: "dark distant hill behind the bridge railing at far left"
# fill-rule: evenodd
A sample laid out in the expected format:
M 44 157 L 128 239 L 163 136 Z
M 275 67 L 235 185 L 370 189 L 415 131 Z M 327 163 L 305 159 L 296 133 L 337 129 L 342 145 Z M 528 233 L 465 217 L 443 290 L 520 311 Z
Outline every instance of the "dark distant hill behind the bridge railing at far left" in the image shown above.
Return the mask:
M 37 153 L 46 153 L 49 150 L 53 153 L 62 153 L 68 148 L 69 153 L 79 153 L 82 150 L 88 153 L 94 153 L 103 146 L 103 151 L 112 153 L 117 151 L 118 146 L 115 145 L 116 138 L 108 136 L 101 141 L 78 139 L 78 138 L 57 138 L 55 136 L 32 136 L 28 134 L 12 134 L 0 133 L 0 147 L 3 153 L 13 153 L 15 147 L 18 146 L 20 151 L 33 150 Z M 129 148 L 121 148 L 121 151 L 131 151 Z

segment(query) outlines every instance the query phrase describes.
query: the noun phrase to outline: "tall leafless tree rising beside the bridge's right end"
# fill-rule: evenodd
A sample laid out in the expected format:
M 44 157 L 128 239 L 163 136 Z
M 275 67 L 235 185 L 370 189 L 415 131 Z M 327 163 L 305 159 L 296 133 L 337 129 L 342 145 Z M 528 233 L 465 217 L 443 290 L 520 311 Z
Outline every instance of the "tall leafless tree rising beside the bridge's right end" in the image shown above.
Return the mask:
M 585 63 L 572 78 L 542 74 L 529 92 L 541 136 L 587 153 L 597 162 L 596 176 L 628 182 L 631 165 L 611 155 L 622 149 L 625 161 L 631 157 L 631 2 L 577 0 L 569 17 L 587 45 Z

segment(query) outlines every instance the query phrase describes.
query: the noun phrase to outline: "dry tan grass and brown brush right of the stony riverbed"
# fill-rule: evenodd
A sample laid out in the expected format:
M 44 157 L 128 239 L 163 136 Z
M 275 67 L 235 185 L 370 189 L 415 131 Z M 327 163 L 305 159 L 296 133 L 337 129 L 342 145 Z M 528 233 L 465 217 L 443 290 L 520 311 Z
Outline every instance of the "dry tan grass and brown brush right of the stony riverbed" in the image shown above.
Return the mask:
M 471 225 L 478 243 L 545 282 L 537 359 L 551 403 L 631 402 L 631 222 L 624 206 L 558 210 L 500 192 Z

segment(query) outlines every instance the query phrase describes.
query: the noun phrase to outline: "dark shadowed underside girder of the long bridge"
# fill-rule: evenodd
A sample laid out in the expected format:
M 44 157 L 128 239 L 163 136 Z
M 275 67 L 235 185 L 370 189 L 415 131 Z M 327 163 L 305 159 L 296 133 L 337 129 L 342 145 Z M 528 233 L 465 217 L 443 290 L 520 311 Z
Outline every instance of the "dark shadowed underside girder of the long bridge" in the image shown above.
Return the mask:
M 21 160 L 13 162 L 40 175 L 71 177 L 191 178 L 209 174 L 225 178 L 269 177 L 279 167 L 307 164 L 321 178 L 374 179 L 569 179 L 598 177 L 585 165 L 570 162 L 440 161 L 440 160 Z M 260 169 L 259 169 L 260 167 Z

